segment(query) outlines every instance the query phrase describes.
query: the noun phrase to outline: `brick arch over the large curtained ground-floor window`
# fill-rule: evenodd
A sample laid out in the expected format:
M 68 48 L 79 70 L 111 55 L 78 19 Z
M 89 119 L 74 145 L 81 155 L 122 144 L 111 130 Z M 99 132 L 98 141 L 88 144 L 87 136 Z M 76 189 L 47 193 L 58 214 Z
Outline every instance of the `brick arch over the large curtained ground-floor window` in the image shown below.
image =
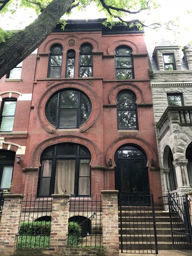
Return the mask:
M 79 136 L 75 136 L 75 135 L 64 135 L 64 136 L 58 136 L 58 137 L 53 137 L 51 139 L 47 139 L 45 141 L 43 141 L 42 143 L 40 143 L 36 149 L 33 151 L 32 154 L 32 164 L 33 166 L 41 166 L 41 162 L 40 162 L 40 158 L 41 155 L 43 153 L 43 151 L 45 150 L 45 148 L 47 147 L 51 147 L 53 145 L 59 144 L 59 143 L 76 143 L 76 144 L 80 144 L 83 145 L 85 147 L 87 147 L 87 149 L 89 149 L 90 153 L 91 153 L 91 163 L 90 165 L 92 166 L 97 166 L 99 161 L 100 161 L 100 155 L 99 155 L 99 151 L 98 148 L 94 145 L 94 143 L 88 139 L 83 139 Z

